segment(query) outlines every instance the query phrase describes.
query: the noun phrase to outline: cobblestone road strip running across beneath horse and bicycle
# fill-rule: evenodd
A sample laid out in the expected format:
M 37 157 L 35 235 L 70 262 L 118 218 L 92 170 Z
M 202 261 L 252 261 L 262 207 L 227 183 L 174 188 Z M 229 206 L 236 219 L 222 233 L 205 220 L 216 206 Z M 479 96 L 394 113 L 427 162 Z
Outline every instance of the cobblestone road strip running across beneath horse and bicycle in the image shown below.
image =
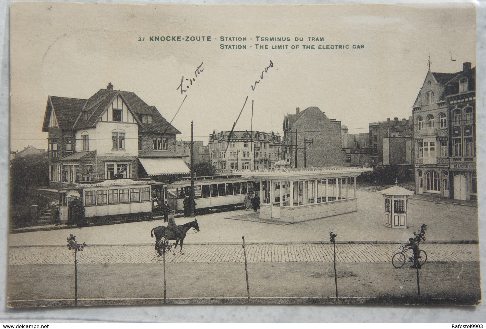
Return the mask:
M 395 243 L 336 244 L 336 260 L 340 262 L 391 261 L 399 251 Z M 478 244 L 430 243 L 422 244 L 427 261 L 479 261 Z M 191 262 L 244 262 L 241 244 L 189 244 L 184 255 L 169 252 L 166 261 Z M 248 262 L 329 262 L 333 261 L 332 244 L 248 244 Z M 411 254 L 411 253 L 410 253 Z M 78 252 L 81 264 L 156 263 L 154 245 L 105 245 L 87 246 Z M 10 265 L 70 264 L 73 255 L 65 246 L 24 246 L 9 248 Z

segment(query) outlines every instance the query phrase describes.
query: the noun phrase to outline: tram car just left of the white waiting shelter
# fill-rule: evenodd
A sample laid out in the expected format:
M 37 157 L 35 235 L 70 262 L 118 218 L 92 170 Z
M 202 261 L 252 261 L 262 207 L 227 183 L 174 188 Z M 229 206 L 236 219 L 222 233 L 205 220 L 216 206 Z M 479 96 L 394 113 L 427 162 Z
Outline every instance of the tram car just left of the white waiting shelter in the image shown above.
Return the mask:
M 212 209 L 230 210 L 243 206 L 246 192 L 260 191 L 260 182 L 241 175 L 194 177 L 194 200 L 197 213 Z M 184 212 L 183 201 L 191 195 L 191 178 L 180 178 L 167 185 L 167 200 L 176 212 Z

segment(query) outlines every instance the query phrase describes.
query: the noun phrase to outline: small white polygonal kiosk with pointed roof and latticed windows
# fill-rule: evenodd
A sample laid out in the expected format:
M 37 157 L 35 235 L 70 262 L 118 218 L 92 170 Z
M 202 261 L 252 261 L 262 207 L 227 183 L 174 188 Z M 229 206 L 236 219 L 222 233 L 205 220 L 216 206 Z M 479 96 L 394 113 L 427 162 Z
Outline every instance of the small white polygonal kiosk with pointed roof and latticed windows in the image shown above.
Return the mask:
M 390 228 L 408 228 L 408 196 L 414 192 L 395 185 L 380 193 L 385 199 L 385 225 Z

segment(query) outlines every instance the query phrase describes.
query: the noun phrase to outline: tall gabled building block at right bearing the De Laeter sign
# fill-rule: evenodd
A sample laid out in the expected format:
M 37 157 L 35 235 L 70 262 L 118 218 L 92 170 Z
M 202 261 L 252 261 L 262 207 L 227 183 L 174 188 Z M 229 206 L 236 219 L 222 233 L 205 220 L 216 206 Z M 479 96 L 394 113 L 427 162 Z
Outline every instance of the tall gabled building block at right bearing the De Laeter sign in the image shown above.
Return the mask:
M 477 199 L 475 73 L 427 72 L 413 106 L 417 194 Z

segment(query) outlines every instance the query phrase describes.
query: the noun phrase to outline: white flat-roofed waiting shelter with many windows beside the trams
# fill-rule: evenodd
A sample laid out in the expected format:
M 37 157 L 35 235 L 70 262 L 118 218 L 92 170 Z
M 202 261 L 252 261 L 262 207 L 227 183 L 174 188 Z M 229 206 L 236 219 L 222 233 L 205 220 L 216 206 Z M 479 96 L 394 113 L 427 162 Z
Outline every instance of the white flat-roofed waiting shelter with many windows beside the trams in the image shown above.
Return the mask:
M 365 167 L 314 167 L 240 173 L 260 179 L 261 219 L 294 223 L 357 211 L 356 177 L 371 171 Z

